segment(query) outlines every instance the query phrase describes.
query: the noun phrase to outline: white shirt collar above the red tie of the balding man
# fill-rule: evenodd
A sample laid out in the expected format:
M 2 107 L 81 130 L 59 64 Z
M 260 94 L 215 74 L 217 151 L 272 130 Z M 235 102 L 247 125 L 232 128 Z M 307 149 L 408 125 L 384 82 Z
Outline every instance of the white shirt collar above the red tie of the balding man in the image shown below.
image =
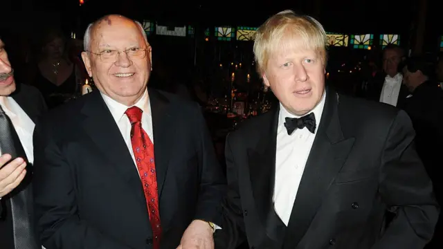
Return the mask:
M 104 93 L 100 92 L 100 95 L 102 95 L 103 100 L 105 100 L 105 104 L 107 105 L 109 111 L 111 111 L 112 118 L 114 118 L 117 123 L 120 122 L 121 118 L 123 118 L 125 115 L 125 111 L 129 107 L 127 107 L 125 104 L 117 102 L 116 100 L 113 100 L 112 98 L 109 98 L 109 96 L 105 95 Z M 143 113 L 151 116 L 151 104 L 149 95 L 147 94 L 147 89 L 145 90 L 145 93 L 143 93 L 141 99 L 131 107 L 138 107 L 143 111 Z

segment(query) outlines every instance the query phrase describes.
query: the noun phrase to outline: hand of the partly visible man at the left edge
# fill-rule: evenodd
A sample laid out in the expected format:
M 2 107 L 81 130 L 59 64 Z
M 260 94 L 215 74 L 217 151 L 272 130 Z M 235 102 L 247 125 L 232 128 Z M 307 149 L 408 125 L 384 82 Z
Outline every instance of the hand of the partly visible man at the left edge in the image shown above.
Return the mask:
M 15 158 L 10 163 L 10 154 L 0 156 L 0 198 L 9 194 L 23 181 L 26 175 L 26 162 L 23 158 Z M 5 165 L 5 163 L 8 163 Z

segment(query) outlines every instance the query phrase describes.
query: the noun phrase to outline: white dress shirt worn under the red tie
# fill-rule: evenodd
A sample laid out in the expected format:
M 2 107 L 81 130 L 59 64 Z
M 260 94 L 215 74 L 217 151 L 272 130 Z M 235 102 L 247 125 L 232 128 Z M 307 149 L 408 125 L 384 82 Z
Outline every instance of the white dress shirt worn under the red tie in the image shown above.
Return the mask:
M 107 95 L 103 93 L 100 94 L 102 95 L 103 100 L 105 100 L 105 104 L 107 105 L 109 111 L 111 111 L 111 115 L 117 123 L 118 129 L 120 130 L 120 133 L 122 134 L 123 139 L 125 140 L 127 149 L 129 150 L 132 160 L 134 160 L 134 165 L 136 166 L 136 158 L 134 156 L 134 151 L 132 150 L 132 143 L 131 143 L 132 126 L 131 122 L 129 122 L 129 118 L 125 114 L 125 111 L 130 107 L 127 107 L 125 104 L 120 104 L 119 102 L 116 102 L 116 100 L 109 98 Z M 145 93 L 143 93 L 142 98 L 138 100 L 136 104 L 134 104 L 134 107 L 138 107 L 143 111 L 143 114 L 141 116 L 141 127 L 146 131 L 147 136 L 150 137 L 152 144 L 154 144 L 151 104 L 149 96 L 147 94 L 147 90 L 145 91 Z

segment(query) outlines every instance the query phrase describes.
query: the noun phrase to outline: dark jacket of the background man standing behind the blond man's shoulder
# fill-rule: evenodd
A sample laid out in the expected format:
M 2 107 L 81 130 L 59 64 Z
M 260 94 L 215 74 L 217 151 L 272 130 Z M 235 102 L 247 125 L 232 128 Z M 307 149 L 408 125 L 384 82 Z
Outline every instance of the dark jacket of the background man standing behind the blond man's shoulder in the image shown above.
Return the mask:
M 385 82 L 385 73 L 377 73 L 374 77 L 369 80 L 362 82 L 361 89 L 357 91 L 356 95 L 367 100 L 374 100 L 379 102 L 381 90 L 383 89 L 383 84 Z M 409 91 L 406 86 L 402 83 L 399 92 L 399 98 L 397 100 L 398 108 L 403 108 L 406 102 L 406 97 L 409 95 Z

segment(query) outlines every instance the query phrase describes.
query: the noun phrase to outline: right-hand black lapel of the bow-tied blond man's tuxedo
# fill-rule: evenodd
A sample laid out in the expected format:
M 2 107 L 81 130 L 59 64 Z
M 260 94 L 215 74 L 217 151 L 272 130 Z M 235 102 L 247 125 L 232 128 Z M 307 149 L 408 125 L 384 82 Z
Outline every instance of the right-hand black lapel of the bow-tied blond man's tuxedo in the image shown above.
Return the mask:
M 318 133 L 289 219 L 284 248 L 297 247 L 354 143 L 354 138 L 344 138 L 341 131 L 338 98 L 334 91 L 328 89 Z

